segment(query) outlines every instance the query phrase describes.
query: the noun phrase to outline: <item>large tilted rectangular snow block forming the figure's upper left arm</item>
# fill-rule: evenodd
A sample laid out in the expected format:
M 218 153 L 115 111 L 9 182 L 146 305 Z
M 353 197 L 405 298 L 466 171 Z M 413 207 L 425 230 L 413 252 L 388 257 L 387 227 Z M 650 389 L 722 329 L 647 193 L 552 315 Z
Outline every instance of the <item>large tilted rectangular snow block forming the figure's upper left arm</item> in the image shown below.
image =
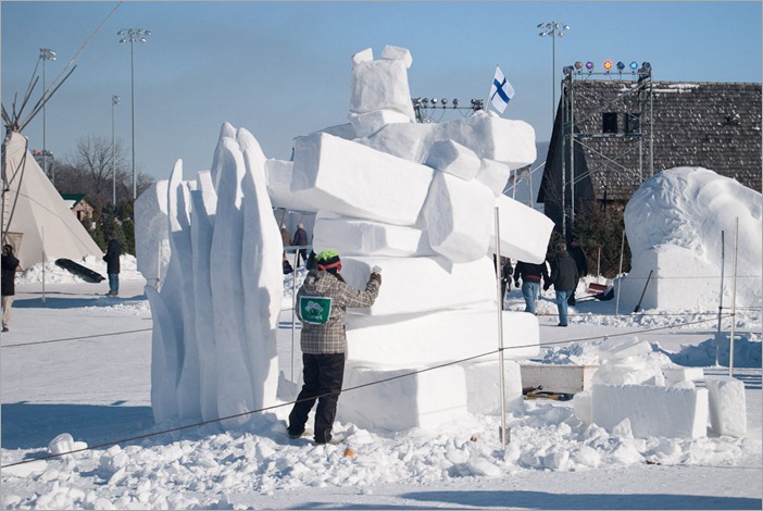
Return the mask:
M 434 171 L 325 133 L 295 140 L 291 191 L 345 216 L 414 225 Z

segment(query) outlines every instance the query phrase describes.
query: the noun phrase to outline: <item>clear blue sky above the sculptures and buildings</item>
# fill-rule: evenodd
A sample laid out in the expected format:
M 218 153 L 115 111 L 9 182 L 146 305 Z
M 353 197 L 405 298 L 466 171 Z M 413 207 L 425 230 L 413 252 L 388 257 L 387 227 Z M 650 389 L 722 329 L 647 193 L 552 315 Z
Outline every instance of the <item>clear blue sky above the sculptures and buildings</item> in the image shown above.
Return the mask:
M 3 0 L 3 105 L 26 90 L 40 48 L 58 53 L 46 67 L 50 85 L 116 5 Z M 137 167 L 166 178 L 183 159 L 188 178 L 209 169 L 224 122 L 280 159 L 293 137 L 346 123 L 350 58 L 365 48 L 377 58 L 385 45 L 408 48 L 411 95 L 462 104 L 487 97 L 500 65 L 516 90 L 503 116 L 548 140 L 552 41 L 538 36 L 538 23 L 572 27 L 556 39 L 558 79 L 577 60 L 599 71 L 622 60 L 650 62 L 655 80 L 761 82 L 761 16 L 760 1 L 123 2 L 49 103 L 47 147 L 66 160 L 78 138 L 110 141 L 117 95 L 115 133 L 129 158 L 130 60 L 121 28 L 152 32 L 135 46 Z M 40 73 L 35 98 L 41 82 Z M 42 148 L 41 113 L 24 134 Z

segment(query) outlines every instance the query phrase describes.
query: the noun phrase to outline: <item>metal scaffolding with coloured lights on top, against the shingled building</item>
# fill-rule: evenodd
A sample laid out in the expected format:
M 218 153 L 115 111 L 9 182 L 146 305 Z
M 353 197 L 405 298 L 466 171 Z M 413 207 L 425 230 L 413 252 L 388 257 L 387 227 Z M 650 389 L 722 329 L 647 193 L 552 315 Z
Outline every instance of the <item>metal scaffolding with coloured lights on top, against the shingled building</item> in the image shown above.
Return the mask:
M 651 65 L 645 62 L 630 72 L 595 73 L 583 66 L 567 66 L 562 79 L 563 158 L 562 158 L 562 232 L 567 234 L 566 219 L 575 222 L 576 188 L 585 179 L 600 174 L 603 198 L 606 179 L 620 175 L 638 185 L 653 174 L 653 115 Z M 596 84 L 596 83 L 599 84 Z M 611 84 L 600 84 L 608 82 Z M 597 86 L 598 85 L 598 86 Z M 593 167 L 578 163 L 576 157 L 590 154 Z M 583 170 L 576 173 L 576 170 Z M 596 191 L 593 191 L 596 196 Z

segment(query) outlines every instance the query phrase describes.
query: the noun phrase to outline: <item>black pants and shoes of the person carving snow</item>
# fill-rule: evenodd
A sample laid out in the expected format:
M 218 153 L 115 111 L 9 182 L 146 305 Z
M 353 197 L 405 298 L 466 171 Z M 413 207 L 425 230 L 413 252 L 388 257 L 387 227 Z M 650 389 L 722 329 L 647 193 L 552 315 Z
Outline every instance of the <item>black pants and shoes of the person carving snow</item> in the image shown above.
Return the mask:
M 309 354 L 302 353 L 304 385 L 289 414 L 289 434 L 304 432 L 308 414 L 315 400 L 315 441 L 326 444 L 332 439 L 332 427 L 337 414 L 337 401 L 345 377 L 345 353 Z

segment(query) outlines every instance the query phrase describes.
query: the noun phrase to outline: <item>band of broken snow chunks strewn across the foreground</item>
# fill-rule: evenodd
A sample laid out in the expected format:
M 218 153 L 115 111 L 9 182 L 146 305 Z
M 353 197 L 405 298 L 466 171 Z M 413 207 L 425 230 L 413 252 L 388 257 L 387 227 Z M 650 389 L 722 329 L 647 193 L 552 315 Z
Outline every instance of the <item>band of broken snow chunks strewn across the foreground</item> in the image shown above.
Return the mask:
M 645 463 L 727 465 L 761 453 L 761 441 L 754 438 L 641 439 L 627 427 L 610 433 L 584 424 L 570 407 L 540 401 L 529 401 L 526 413 L 511 416 L 508 425 L 512 441 L 505 451 L 496 449 L 499 422 L 490 416 L 453 421 L 438 432 L 416 429 L 390 437 L 339 424 L 347 438 L 340 446 L 316 446 L 307 439 L 284 443 L 278 423 L 270 428 L 260 424 L 257 435 L 201 429 L 191 438 L 158 437 L 72 454 L 68 460 L 3 469 L 3 504 L 243 509 L 261 496 L 276 499 L 261 506 L 282 508 L 278 495 L 304 488 L 355 488 L 361 495 L 383 485 L 436 484 L 450 489 L 462 481 L 481 485 L 526 472 L 639 470 Z M 354 456 L 346 456 L 347 446 Z M 38 491 L 23 490 L 17 486 L 21 481 Z

